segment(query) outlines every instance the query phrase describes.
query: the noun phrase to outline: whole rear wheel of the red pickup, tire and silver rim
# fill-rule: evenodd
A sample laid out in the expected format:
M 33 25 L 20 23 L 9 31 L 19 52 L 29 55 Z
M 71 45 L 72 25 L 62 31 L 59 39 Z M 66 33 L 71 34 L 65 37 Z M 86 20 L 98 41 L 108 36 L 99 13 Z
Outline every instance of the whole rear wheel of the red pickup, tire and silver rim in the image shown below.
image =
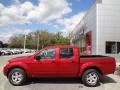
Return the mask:
M 88 69 L 83 73 L 82 82 L 89 87 L 95 87 L 99 85 L 100 74 L 95 69 Z

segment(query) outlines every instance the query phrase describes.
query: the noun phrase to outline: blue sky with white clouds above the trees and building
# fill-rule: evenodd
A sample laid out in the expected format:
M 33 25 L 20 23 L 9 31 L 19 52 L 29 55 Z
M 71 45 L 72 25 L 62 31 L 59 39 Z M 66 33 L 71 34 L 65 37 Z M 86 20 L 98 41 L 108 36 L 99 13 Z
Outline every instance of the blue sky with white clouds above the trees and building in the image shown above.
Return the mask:
M 36 30 L 67 36 L 95 0 L 0 0 L 0 40 Z

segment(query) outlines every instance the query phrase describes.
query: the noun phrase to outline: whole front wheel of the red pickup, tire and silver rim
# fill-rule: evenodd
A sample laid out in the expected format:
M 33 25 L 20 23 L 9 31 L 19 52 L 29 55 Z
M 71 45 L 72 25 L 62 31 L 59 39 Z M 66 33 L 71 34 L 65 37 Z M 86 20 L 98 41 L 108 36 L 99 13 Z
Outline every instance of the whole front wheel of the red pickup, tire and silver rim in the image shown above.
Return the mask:
M 9 82 L 14 86 L 20 86 L 26 82 L 26 73 L 20 68 L 12 69 L 8 74 Z

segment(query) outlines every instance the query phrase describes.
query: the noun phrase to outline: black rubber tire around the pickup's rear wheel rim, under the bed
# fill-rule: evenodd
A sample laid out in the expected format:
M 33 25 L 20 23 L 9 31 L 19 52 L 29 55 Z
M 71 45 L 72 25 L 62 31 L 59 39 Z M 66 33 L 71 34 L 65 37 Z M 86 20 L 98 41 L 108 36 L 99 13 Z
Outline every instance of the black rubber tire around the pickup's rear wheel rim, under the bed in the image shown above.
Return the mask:
M 91 85 L 91 84 L 88 84 L 87 81 L 86 81 L 86 76 L 89 74 L 89 73 L 95 73 L 97 75 L 97 82 L 95 85 Z M 82 75 L 82 82 L 86 85 L 86 86 L 89 86 L 89 87 L 96 87 L 99 85 L 99 80 L 100 80 L 100 74 L 98 73 L 97 70 L 95 69 L 88 69 L 86 70 L 83 75 Z

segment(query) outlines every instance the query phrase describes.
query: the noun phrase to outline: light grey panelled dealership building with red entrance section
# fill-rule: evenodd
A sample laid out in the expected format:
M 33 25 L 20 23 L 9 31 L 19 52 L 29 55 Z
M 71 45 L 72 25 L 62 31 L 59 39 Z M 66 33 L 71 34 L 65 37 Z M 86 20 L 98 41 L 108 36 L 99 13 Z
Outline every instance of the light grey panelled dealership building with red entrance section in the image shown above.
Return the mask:
M 82 54 L 120 54 L 120 0 L 97 0 L 70 33 Z

